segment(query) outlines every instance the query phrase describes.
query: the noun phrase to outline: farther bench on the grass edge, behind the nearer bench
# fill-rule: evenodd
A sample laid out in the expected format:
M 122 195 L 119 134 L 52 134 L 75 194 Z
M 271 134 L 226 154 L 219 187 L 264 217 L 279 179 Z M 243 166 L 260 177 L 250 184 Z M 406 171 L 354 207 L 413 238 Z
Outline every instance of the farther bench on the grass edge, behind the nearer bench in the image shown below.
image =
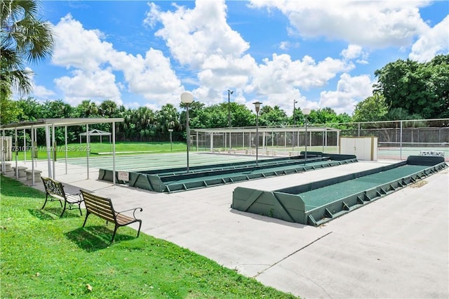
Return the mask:
M 67 207 L 67 204 L 69 205 L 69 210 L 72 210 L 74 206 L 78 206 L 80 215 L 83 215 L 81 212 L 81 203 L 83 202 L 83 199 L 81 198 L 81 193 L 76 194 L 69 194 L 64 191 L 64 185 L 62 185 L 62 182 L 58 182 L 57 180 L 53 180 L 52 178 L 45 178 L 41 176 L 41 180 L 43 182 L 43 186 L 45 187 L 46 197 L 45 202 L 43 203 L 43 206 L 41 209 L 45 207 L 47 204 L 48 199 L 50 201 L 59 201 L 62 207 L 62 201 L 64 201 L 64 208 L 62 208 L 62 215 L 64 215 L 65 209 Z

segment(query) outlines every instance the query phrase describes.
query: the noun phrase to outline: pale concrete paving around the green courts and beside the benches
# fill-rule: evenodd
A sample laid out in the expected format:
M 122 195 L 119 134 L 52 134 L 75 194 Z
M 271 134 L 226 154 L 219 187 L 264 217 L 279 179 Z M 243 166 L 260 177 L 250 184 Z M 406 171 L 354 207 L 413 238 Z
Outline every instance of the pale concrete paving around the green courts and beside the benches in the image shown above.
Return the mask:
M 302 298 L 449 298 L 448 169 L 323 227 L 230 208 L 237 186 L 274 190 L 392 162 L 357 162 L 174 194 L 113 186 L 96 180 L 98 171 L 86 180 L 83 166 L 69 165 L 69 174 L 57 180 L 111 197 L 117 210 L 140 206 L 142 232 Z M 36 166 L 44 176 L 46 167 Z M 63 163 L 56 168 L 65 173 Z M 41 182 L 34 187 L 43 190 Z

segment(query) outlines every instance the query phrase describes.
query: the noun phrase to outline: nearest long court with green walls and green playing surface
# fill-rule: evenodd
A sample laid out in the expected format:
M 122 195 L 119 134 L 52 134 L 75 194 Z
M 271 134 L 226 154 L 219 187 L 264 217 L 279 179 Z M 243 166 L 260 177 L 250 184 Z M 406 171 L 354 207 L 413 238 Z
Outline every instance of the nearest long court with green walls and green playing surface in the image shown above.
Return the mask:
M 319 226 L 447 167 L 443 157 L 410 156 L 389 166 L 281 190 L 237 187 L 232 208 Z

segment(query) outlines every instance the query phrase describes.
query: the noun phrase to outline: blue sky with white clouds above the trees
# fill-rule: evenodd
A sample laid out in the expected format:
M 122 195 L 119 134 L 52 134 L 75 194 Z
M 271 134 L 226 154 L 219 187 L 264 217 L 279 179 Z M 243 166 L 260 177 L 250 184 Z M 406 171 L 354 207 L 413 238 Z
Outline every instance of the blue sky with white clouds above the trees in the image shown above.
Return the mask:
M 30 65 L 32 97 L 179 107 L 330 107 L 351 115 L 374 72 L 449 53 L 449 1 L 42 1 L 53 57 Z

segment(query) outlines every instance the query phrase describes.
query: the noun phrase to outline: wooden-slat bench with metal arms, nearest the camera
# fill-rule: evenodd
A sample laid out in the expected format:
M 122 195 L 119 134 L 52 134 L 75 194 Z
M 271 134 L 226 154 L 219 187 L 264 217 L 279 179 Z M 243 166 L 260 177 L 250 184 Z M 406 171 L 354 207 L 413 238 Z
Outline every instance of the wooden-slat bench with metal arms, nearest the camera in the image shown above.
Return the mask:
M 86 204 L 86 219 L 84 220 L 83 227 L 86 225 L 86 221 L 89 215 L 97 215 L 98 217 L 106 220 L 107 222 L 113 222 L 114 234 L 112 234 L 111 242 L 114 241 L 116 231 L 119 227 L 130 225 L 134 222 L 139 222 L 138 236 L 140 234 L 140 227 L 142 226 L 142 220 L 135 218 L 135 211 L 142 212 L 142 208 L 131 208 L 130 210 L 116 212 L 114 206 L 112 206 L 112 201 L 109 198 L 99 197 L 98 195 L 91 194 L 81 190 L 82 197 L 84 199 L 84 204 Z M 133 211 L 133 216 L 125 215 L 124 212 Z

